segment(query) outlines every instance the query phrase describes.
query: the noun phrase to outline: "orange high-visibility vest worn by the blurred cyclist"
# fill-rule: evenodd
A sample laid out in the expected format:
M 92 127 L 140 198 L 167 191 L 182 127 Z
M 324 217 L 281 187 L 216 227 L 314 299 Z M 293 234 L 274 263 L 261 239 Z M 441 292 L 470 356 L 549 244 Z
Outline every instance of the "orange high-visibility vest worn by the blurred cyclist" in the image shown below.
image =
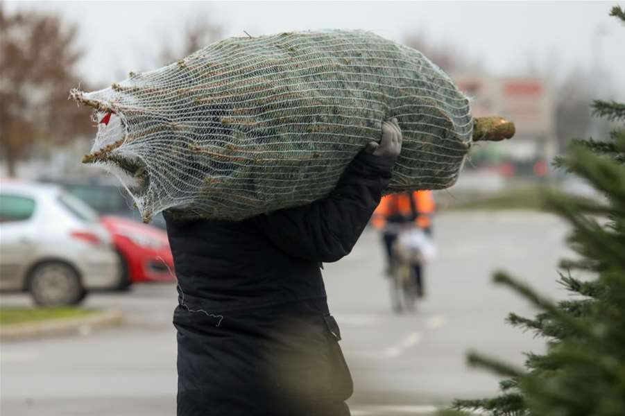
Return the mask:
M 429 214 L 436 206 L 432 193 L 431 191 L 414 191 L 412 195 L 417 211 L 415 224 L 420 228 L 427 228 L 430 225 Z M 388 218 L 397 215 L 410 218 L 412 213 L 410 193 L 392 193 L 384 196 L 379 202 L 371 217 L 371 223 L 377 229 L 384 229 Z

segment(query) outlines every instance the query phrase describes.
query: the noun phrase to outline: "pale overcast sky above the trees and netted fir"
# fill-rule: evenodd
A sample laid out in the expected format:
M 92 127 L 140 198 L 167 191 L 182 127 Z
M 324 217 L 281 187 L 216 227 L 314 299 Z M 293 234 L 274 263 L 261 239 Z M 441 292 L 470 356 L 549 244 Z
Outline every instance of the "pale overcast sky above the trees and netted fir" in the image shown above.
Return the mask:
M 78 24 L 86 51 L 80 69 L 87 80 L 105 85 L 128 71 L 152 69 L 159 43 L 180 42 L 185 21 L 194 18 L 220 24 L 225 36 L 359 28 L 401 41 L 406 33 L 423 33 L 431 42 L 464 49 L 495 74 L 522 74 L 529 62 L 558 78 L 576 65 L 599 68 L 620 98 L 625 97 L 625 27 L 608 17 L 618 3 L 625 6 L 622 1 L 9 1 L 6 7 L 53 10 Z

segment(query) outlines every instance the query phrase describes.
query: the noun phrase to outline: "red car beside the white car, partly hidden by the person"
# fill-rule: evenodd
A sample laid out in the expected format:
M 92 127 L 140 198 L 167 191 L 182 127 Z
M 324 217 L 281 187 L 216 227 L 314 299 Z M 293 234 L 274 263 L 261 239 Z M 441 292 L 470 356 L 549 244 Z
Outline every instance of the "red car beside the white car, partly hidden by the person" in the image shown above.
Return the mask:
M 175 281 L 166 232 L 119 216 L 102 216 L 101 223 L 121 257 L 123 273 L 118 289 L 139 282 Z

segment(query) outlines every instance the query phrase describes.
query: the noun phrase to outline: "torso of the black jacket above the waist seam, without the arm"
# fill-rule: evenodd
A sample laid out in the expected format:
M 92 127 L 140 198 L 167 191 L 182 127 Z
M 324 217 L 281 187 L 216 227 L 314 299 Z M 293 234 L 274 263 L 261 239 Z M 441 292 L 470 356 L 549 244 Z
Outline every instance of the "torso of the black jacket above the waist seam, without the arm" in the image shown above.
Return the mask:
M 166 218 L 176 274 L 189 305 L 227 312 L 325 296 L 318 262 L 281 250 L 259 218 L 189 223 Z

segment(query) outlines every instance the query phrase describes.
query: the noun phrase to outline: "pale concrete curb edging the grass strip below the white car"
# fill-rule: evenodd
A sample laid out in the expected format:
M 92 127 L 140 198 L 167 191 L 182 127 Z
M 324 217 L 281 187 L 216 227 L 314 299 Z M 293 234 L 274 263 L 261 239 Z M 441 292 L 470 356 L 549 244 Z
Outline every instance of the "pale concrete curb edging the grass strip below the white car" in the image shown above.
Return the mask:
M 12 342 L 73 335 L 76 333 L 87 334 L 94 329 L 117 327 L 122 322 L 123 313 L 121 311 L 104 311 L 83 318 L 67 318 L 49 320 L 48 322 L 11 325 L 8 328 L 0 329 L 0 340 L 2 342 Z

